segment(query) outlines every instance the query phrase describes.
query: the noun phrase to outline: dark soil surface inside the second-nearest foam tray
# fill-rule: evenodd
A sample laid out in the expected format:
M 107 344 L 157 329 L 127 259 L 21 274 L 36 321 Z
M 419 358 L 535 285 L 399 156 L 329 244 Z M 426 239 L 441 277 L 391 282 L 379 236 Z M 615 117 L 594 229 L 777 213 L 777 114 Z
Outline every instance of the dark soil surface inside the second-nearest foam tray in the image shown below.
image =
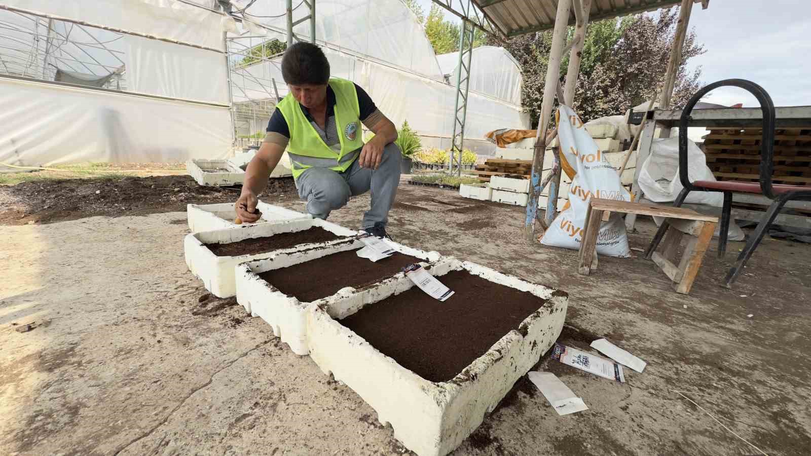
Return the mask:
M 396 252 L 388 258 L 372 263 L 355 252 L 333 253 L 288 268 L 260 273 L 265 281 L 288 296 L 303 303 L 334 295 L 345 286 L 362 288 L 399 273 L 405 266 L 418 263 L 414 256 Z

